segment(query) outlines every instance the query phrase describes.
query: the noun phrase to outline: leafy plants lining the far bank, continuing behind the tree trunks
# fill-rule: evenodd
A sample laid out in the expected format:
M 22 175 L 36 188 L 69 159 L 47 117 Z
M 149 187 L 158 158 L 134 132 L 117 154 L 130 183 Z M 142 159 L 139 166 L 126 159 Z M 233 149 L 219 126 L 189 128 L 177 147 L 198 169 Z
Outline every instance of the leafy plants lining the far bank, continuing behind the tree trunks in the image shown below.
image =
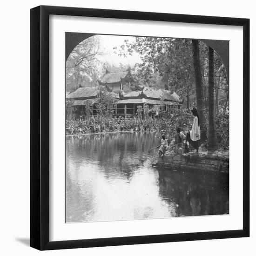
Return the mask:
M 207 116 L 205 117 L 207 121 Z M 95 115 L 80 119 L 66 120 L 66 135 L 82 135 L 108 132 L 165 132 L 170 139 L 175 135 L 175 129 L 180 127 L 185 133 L 192 128 L 193 116 L 188 110 L 177 110 L 172 114 L 159 118 L 111 117 Z M 216 116 L 216 131 L 220 148 L 229 149 L 229 114 Z M 207 131 L 206 131 L 207 133 Z M 201 141 L 204 143 L 204 141 Z

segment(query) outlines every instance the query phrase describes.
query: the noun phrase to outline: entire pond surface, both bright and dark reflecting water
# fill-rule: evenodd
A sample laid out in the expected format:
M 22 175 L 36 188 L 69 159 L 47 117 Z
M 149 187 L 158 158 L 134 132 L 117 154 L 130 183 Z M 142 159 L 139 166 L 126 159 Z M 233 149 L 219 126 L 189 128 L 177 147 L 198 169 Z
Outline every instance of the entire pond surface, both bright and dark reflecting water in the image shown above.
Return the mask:
M 152 167 L 158 133 L 67 136 L 66 222 L 229 213 L 229 175 Z

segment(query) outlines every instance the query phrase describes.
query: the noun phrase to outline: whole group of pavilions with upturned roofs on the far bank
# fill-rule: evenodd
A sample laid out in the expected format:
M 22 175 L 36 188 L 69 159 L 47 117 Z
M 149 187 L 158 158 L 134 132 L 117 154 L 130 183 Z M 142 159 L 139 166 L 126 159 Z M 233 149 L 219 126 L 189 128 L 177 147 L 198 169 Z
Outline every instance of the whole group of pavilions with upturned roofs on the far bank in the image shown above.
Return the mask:
M 148 106 L 149 110 L 154 108 L 154 106 L 159 106 L 164 111 L 172 108 L 181 108 L 182 100 L 175 92 L 171 93 L 169 90 L 143 86 L 131 86 L 129 83 L 131 80 L 127 76 L 129 72 L 112 73 L 107 78 L 105 77 L 106 75 L 104 76 L 105 79 L 103 81 L 113 81 L 113 83 L 102 83 L 102 85 L 104 84 L 103 87 L 106 86 L 107 93 L 112 94 L 115 99 L 115 116 L 136 115 L 138 106 L 142 108 Z M 114 79 L 117 77 L 116 74 L 122 73 L 125 73 L 123 74 L 123 79 Z M 126 86 L 127 90 L 125 90 Z M 135 90 L 135 88 L 137 89 Z M 74 92 L 67 94 L 66 98 L 72 100 L 73 113 L 77 116 L 84 115 L 88 106 L 91 108 L 92 114 L 97 115 L 95 102 L 99 93 L 100 89 L 96 87 L 80 87 Z

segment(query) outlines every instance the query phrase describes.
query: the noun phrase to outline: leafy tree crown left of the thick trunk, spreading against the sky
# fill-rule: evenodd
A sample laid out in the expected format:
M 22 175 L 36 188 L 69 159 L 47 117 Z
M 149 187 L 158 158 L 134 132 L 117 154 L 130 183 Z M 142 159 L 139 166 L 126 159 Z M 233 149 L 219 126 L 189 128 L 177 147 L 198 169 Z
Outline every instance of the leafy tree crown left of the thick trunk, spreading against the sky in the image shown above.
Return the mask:
M 140 54 L 133 75 L 141 85 L 165 88 L 180 95 L 194 94 L 194 70 L 191 40 L 162 37 L 135 37 L 114 47 L 120 56 Z M 188 86 L 184 86 L 188 85 Z

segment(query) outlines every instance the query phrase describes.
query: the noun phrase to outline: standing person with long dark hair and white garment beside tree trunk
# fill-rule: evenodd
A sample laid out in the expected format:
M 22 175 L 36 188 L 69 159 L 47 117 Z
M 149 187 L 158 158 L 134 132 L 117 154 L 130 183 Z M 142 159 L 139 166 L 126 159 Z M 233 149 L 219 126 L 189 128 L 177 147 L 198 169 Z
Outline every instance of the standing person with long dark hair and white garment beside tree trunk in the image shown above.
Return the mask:
M 187 133 L 186 136 L 186 143 L 189 141 L 189 144 L 196 149 L 196 152 L 198 153 L 199 148 L 199 140 L 200 140 L 200 119 L 196 108 L 192 109 L 192 114 L 195 116 L 192 130 Z

